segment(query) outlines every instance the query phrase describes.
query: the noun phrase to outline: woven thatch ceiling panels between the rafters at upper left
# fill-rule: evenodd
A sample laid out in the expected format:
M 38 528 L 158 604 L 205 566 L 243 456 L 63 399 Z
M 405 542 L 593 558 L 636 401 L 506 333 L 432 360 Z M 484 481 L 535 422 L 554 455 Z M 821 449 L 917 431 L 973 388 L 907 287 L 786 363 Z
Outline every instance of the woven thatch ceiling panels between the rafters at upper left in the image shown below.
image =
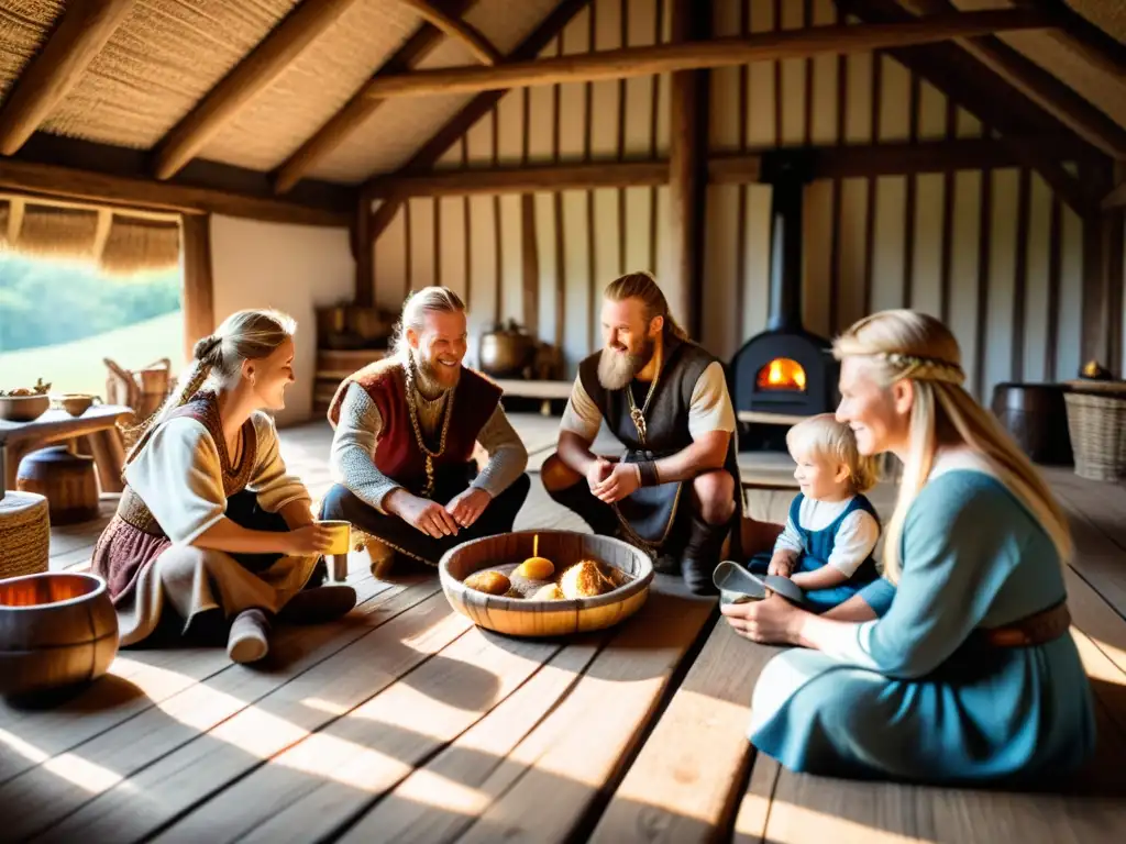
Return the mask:
M 502 53 L 557 0 L 480 0 L 466 12 Z M 151 150 L 270 30 L 296 0 L 140 0 L 42 131 Z M 42 46 L 61 0 L 0 0 L 0 96 Z M 425 21 L 400 0 L 357 0 L 226 124 L 199 156 L 270 171 L 336 114 Z M 474 64 L 446 38 L 419 66 Z M 394 169 L 466 96 L 403 99 L 378 113 L 310 177 L 345 183 Z

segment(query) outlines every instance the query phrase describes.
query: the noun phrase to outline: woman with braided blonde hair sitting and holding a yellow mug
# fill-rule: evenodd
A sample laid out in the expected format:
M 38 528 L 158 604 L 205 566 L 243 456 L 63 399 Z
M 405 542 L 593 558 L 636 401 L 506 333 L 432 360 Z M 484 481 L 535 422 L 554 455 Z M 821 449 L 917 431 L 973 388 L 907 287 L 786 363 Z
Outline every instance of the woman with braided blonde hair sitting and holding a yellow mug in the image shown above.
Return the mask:
M 196 343 L 193 366 L 145 423 L 93 554 L 123 645 L 163 619 L 185 634 L 218 632 L 232 659 L 254 662 L 272 617 L 328 620 L 355 604 L 350 586 L 309 587 L 328 531 L 262 412 L 285 406 L 294 330 L 278 312 L 232 314 Z

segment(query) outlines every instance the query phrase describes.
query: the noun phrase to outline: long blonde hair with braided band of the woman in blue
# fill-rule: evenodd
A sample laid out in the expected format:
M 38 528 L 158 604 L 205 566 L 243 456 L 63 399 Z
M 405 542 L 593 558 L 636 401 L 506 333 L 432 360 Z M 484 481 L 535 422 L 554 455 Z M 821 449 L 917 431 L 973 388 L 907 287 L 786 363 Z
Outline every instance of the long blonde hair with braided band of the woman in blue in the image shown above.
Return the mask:
M 900 494 L 884 539 L 884 575 L 899 581 L 903 560 L 900 544 L 903 523 L 930 476 L 939 434 L 964 443 L 983 456 L 1006 487 L 1044 527 L 1060 555 L 1071 558 L 1067 517 L 1039 472 L 992 413 L 962 386 L 962 351 L 941 322 L 914 311 L 882 311 L 866 316 L 833 342 L 841 360 L 861 357 L 872 361 L 872 376 L 883 387 L 910 379 L 911 449 L 903 465 Z

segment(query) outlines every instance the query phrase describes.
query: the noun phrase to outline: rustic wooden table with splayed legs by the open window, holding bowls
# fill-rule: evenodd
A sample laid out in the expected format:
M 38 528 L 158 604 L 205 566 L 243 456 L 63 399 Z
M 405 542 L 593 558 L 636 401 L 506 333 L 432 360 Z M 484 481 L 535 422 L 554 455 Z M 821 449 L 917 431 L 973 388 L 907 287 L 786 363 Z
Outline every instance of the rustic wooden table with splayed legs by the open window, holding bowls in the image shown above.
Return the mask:
M 66 442 L 80 437 L 89 438 L 90 450 L 98 467 L 98 479 L 104 493 L 119 493 L 125 449 L 117 431 L 118 420 L 131 416 L 129 407 L 116 404 L 91 405 L 81 416 L 63 410 L 48 410 L 30 422 L 0 420 L 0 495 L 16 488 L 19 461 L 25 455 L 55 442 Z

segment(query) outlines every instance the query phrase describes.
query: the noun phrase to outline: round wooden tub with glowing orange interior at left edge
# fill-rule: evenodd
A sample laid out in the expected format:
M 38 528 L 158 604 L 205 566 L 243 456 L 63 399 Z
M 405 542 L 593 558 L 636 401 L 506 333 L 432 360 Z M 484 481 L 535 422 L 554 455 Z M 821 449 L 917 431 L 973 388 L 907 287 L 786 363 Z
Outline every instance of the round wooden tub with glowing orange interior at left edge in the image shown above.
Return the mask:
M 91 682 L 116 654 L 117 613 L 101 577 L 47 572 L 0 581 L 0 694 Z

